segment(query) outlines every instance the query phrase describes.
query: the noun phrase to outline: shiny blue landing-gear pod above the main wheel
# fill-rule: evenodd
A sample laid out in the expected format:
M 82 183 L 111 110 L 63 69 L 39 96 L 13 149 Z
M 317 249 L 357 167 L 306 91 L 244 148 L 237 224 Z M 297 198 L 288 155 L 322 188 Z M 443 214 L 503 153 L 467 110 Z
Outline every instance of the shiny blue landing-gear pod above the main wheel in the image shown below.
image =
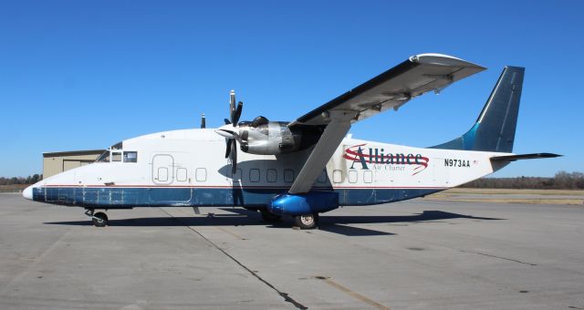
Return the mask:
M 304 194 L 276 195 L 267 206 L 274 214 L 304 215 L 328 212 L 339 208 L 339 193 L 335 191 L 310 191 Z

